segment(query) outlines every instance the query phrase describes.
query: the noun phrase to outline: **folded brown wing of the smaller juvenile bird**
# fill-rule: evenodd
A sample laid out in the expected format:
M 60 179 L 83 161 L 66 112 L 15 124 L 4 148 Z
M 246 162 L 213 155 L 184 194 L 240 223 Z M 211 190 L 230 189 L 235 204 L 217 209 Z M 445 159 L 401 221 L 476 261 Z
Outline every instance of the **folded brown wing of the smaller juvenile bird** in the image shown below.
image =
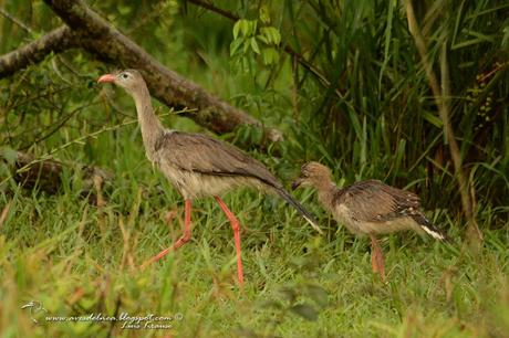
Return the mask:
M 356 182 L 339 190 L 335 202 L 344 204 L 355 219 L 364 222 L 386 222 L 420 214 L 419 198 L 415 193 L 376 180 Z

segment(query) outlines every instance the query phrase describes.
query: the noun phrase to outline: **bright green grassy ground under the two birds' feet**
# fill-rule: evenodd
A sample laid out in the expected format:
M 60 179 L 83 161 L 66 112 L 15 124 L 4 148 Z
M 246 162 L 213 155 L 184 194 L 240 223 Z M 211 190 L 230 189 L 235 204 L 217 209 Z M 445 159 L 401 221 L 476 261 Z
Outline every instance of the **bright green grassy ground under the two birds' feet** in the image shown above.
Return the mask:
M 104 207 L 83 201 L 72 177 L 59 196 L 0 196 L 9 205 L 0 233 L 3 337 L 508 337 L 507 226 L 486 231 L 478 254 L 414 234 L 385 237 L 383 284 L 371 272 L 368 241 L 337 230 L 310 191 L 300 199 L 321 215 L 323 237 L 276 197 L 225 197 L 243 224 L 245 289 L 235 283 L 231 229 L 211 200 L 195 203 L 193 241 L 142 272 L 179 235 L 183 203 L 139 150 L 126 154 L 114 161 L 118 178 Z M 178 212 L 167 225 L 170 210 Z M 450 215 L 432 216 L 459 241 Z M 22 309 L 30 300 L 48 313 Z M 44 318 L 122 313 L 167 316 L 153 324 L 172 328 Z

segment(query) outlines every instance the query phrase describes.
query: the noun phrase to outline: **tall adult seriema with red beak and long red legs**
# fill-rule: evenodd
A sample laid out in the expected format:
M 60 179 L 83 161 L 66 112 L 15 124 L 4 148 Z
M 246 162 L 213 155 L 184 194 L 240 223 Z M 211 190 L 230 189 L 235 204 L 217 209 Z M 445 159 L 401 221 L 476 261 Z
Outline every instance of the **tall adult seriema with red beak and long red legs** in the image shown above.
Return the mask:
M 150 94 L 142 74 L 136 70 L 125 70 L 101 76 L 97 82 L 114 83 L 123 87 L 136 104 L 143 144 L 148 160 L 159 168 L 185 199 L 184 234 L 170 247 L 162 251 L 142 267 L 190 240 L 191 201 L 196 198 L 214 197 L 233 229 L 237 251 L 237 273 L 243 285 L 242 260 L 240 254 L 240 224 L 219 194 L 239 187 L 253 187 L 273 191 L 284 199 L 320 233 L 313 216 L 284 190 L 281 182 L 259 161 L 233 146 L 200 134 L 188 134 L 163 127 L 152 107 Z

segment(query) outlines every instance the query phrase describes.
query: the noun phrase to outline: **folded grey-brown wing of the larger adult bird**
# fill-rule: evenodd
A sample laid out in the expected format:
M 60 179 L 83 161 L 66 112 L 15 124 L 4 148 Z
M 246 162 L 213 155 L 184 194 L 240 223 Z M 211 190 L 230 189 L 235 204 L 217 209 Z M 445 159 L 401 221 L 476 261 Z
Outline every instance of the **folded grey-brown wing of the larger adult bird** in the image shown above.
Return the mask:
M 278 179 L 259 161 L 233 146 L 201 134 L 167 131 L 156 152 L 180 170 L 215 176 L 242 176 L 280 188 Z

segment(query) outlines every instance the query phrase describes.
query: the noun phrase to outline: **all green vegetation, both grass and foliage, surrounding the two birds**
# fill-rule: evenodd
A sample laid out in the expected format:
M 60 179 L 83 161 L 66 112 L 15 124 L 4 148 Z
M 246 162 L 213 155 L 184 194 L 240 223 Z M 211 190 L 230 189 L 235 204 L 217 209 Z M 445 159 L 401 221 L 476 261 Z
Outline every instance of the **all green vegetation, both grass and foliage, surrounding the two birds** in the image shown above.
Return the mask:
M 323 237 L 276 197 L 239 191 L 226 202 L 245 229 L 243 291 L 235 285 L 231 230 L 209 200 L 196 204 L 194 240 L 141 272 L 178 236 L 181 199 L 145 159 L 132 99 L 95 84 L 121 65 L 67 51 L 0 80 L 2 151 L 8 159 L 9 149 L 51 152 L 115 180 L 105 203 L 91 204 L 80 172 L 64 171 L 49 196 L 21 189 L 0 163 L 2 336 L 508 337 L 509 6 L 413 1 L 433 71 L 450 80 L 449 117 L 485 235 L 471 252 L 461 245 L 456 173 L 406 1 L 214 1 L 222 12 L 196 3 L 90 6 L 172 70 L 282 130 L 277 145 L 249 127 L 220 137 L 283 181 L 320 160 L 339 184 L 376 178 L 412 189 L 454 244 L 385 237 L 382 284 L 367 241 L 332 221 L 310 191 L 297 196 Z M 41 1 L 2 8 L 11 17 L 0 17 L 1 54 L 61 24 Z M 166 126 L 207 133 L 156 106 Z M 55 316 L 167 315 L 173 328 L 48 323 L 21 308 L 30 300 Z

